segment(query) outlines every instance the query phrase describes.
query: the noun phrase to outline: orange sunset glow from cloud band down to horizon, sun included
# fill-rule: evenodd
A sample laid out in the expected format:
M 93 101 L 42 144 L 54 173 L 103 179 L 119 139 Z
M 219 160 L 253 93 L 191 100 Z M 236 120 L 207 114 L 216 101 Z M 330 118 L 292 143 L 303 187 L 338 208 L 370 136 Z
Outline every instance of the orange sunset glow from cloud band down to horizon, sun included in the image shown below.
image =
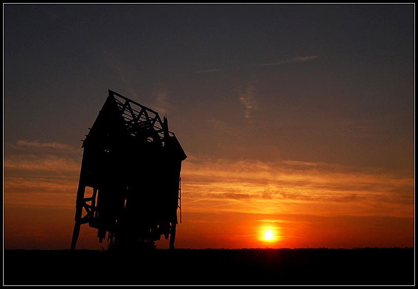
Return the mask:
M 42 148 L 39 143 L 24 144 Z M 81 160 L 70 148 L 60 149 L 68 155 L 5 157 L 5 248 L 69 246 Z M 181 175 L 178 248 L 414 244 L 413 175 L 326 163 L 207 160 L 193 155 L 184 162 Z M 106 249 L 95 234 L 82 226 L 78 247 Z M 164 237 L 156 244 L 168 246 Z

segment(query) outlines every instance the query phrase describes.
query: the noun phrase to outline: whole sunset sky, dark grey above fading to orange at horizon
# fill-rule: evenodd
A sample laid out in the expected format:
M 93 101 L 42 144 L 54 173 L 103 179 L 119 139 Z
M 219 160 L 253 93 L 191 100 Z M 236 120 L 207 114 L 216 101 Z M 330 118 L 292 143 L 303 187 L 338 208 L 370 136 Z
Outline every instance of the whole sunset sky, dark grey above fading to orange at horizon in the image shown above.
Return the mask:
M 414 9 L 3 5 L 4 248 L 69 249 L 108 89 L 187 154 L 176 247 L 413 247 Z

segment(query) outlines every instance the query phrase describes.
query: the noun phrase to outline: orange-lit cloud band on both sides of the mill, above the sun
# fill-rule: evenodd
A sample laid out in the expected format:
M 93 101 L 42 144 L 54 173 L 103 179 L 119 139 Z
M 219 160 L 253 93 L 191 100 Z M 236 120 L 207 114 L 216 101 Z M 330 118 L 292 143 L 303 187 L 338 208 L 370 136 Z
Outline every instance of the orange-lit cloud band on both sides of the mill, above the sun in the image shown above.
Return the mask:
M 39 200 L 50 197 L 57 201 L 45 205 L 56 207 L 62 200 L 64 207 L 72 206 L 81 154 L 63 153 L 67 149 L 54 142 L 16 143 L 14 154 L 8 153 L 3 162 L 5 207 L 42 205 Z M 414 216 L 413 172 L 189 154 L 181 176 L 183 212 Z

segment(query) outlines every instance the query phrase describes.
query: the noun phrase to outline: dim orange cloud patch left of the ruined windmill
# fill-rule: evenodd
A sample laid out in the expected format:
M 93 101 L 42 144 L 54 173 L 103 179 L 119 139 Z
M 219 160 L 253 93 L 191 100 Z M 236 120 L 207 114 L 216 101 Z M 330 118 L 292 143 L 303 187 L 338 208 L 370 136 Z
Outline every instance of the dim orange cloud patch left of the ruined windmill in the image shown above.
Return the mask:
M 81 150 L 65 143 L 19 140 L 3 159 L 4 206 L 73 208 Z

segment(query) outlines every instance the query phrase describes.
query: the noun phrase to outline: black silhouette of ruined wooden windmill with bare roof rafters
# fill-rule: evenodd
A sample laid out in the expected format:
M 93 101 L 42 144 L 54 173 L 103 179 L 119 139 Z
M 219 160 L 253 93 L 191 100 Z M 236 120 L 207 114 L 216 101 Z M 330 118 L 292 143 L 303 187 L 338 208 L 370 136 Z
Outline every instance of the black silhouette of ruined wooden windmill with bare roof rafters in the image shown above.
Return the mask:
M 109 90 L 82 148 L 71 249 L 82 224 L 98 230 L 99 242 L 106 233 L 110 244 L 123 246 L 164 235 L 174 248 L 187 156 L 167 118 Z

